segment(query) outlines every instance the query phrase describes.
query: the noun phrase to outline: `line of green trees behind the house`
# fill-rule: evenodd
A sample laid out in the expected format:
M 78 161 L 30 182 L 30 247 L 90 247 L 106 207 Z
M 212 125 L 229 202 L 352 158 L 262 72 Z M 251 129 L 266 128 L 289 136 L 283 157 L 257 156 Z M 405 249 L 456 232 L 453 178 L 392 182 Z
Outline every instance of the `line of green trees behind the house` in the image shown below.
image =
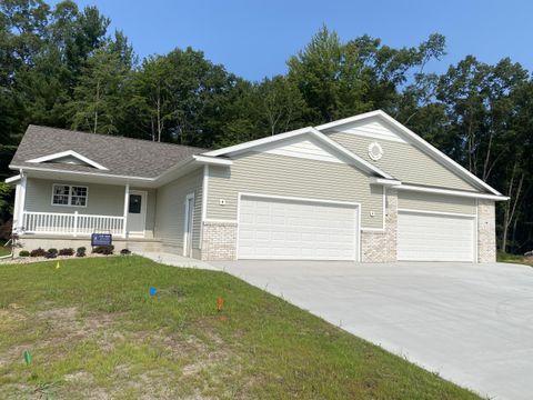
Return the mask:
M 252 82 L 191 48 L 139 59 L 109 24 L 70 0 L 0 0 L 2 174 L 29 123 L 218 148 L 382 109 L 510 196 L 499 246 L 533 248 L 533 79 L 520 63 L 467 56 L 430 73 L 445 54 L 441 34 L 394 48 L 323 27 L 285 74 Z

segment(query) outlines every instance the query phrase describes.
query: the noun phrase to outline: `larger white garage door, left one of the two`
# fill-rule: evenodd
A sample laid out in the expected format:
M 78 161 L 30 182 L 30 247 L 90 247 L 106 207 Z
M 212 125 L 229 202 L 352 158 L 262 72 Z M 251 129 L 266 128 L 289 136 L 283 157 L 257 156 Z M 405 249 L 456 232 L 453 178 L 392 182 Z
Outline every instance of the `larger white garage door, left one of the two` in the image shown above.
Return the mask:
M 240 259 L 356 260 L 356 206 L 242 197 Z

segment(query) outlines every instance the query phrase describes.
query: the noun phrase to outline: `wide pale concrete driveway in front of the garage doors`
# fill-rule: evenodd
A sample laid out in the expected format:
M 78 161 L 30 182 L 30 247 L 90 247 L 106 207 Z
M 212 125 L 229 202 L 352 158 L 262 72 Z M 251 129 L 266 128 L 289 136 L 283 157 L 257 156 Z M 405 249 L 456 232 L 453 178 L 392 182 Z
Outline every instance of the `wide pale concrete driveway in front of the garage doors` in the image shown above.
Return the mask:
M 480 394 L 533 396 L 533 268 L 447 262 L 213 264 Z

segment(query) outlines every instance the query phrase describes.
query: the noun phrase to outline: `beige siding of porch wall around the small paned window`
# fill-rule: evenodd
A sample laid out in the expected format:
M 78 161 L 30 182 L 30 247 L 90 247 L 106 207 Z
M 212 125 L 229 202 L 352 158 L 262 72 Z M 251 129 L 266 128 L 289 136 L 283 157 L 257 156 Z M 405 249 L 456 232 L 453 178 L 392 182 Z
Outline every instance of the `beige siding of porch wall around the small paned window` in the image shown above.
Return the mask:
M 88 187 L 87 207 L 52 206 L 53 183 Z M 123 217 L 124 191 L 123 186 L 28 178 L 24 210 Z

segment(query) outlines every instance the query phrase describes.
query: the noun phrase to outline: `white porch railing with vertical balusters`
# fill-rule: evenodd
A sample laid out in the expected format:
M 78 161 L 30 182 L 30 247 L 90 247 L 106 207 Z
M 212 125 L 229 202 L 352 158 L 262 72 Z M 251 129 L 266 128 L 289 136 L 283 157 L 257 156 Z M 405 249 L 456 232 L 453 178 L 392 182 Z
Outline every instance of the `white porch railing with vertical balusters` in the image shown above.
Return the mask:
M 124 234 L 124 217 L 90 216 L 60 212 L 23 212 L 24 233 L 49 234 L 91 234 L 93 232 L 110 232 L 115 236 Z

